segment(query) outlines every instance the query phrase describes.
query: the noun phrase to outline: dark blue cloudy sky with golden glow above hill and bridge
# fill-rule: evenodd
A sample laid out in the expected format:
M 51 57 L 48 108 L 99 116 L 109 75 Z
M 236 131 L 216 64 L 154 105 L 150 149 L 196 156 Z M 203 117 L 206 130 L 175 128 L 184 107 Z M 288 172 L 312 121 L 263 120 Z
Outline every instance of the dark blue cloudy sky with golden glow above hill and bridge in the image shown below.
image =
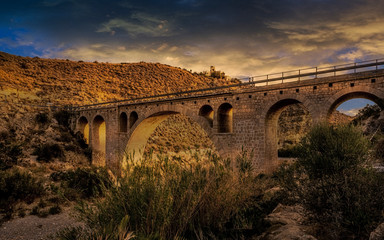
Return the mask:
M 0 51 L 249 77 L 384 58 L 383 0 L 14 0 Z

